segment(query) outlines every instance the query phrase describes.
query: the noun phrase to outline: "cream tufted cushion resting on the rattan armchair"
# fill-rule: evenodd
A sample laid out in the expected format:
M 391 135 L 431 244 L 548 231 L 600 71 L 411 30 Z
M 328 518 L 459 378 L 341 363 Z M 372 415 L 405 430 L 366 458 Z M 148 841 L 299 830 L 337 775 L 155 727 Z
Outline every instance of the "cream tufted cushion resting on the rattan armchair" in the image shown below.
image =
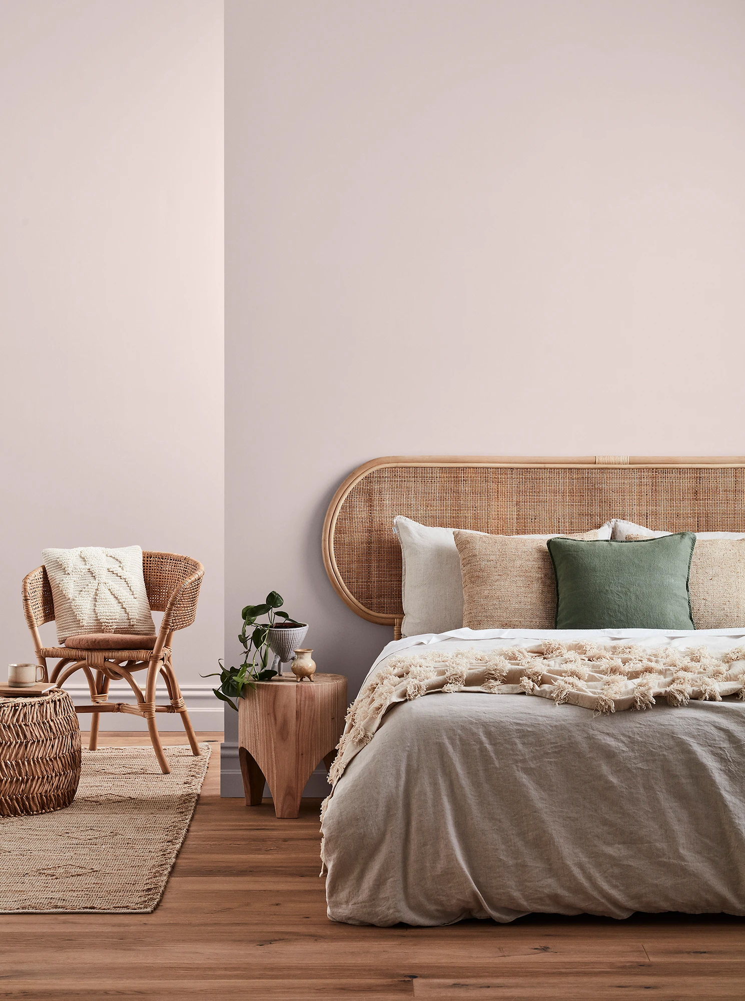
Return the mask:
M 41 558 L 52 587 L 59 643 L 88 633 L 156 632 L 139 546 L 44 550 Z

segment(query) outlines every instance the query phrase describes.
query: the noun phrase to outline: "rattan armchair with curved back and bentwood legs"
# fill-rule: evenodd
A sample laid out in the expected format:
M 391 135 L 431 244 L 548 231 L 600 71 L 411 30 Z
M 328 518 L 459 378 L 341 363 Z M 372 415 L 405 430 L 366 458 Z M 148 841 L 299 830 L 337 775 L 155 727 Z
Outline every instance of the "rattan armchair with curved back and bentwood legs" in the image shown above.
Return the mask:
M 194 736 L 186 706 L 181 698 L 171 660 L 171 642 L 176 630 L 190 626 L 196 618 L 196 602 L 204 568 L 196 560 L 180 557 L 175 553 L 142 554 L 142 573 L 145 579 L 147 600 L 153 612 L 162 612 L 163 619 L 151 649 L 116 650 L 116 634 L 111 634 L 111 650 L 84 650 L 64 647 L 43 647 L 39 626 L 54 621 L 54 601 L 49 578 L 43 567 L 28 574 L 23 580 L 23 611 L 34 641 L 36 659 L 44 668 L 45 680 L 58 686 L 76 671 L 82 671 L 90 689 L 90 706 L 76 706 L 78 713 L 92 713 L 89 748 L 95 751 L 98 743 L 98 723 L 101 713 L 131 713 L 147 720 L 150 740 L 164 774 L 170 772 L 163 754 L 156 713 L 179 713 L 183 729 L 194 755 L 199 746 Z M 142 647 L 146 646 L 145 637 Z M 49 673 L 47 658 L 59 658 Z M 132 677 L 136 671 L 147 670 L 144 689 Z M 155 705 L 155 684 L 158 674 L 163 676 L 170 705 Z M 131 687 L 136 702 L 110 703 L 108 689 L 111 680 L 124 679 Z

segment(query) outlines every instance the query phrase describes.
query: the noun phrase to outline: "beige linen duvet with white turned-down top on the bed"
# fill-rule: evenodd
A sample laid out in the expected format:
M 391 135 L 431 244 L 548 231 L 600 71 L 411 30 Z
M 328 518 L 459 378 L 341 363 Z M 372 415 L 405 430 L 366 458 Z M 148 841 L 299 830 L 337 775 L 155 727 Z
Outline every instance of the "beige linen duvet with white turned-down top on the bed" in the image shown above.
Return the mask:
M 545 641 L 634 644 L 657 666 L 716 661 L 742 689 L 742 630 L 459 630 L 389 645 L 370 676 L 397 656 L 471 649 L 484 664 L 497 649 L 535 651 Z M 692 658 L 684 653 L 692 646 L 704 649 Z M 716 668 L 714 676 L 721 684 Z M 670 700 L 689 698 L 685 706 L 666 694 L 645 712 L 604 715 L 490 694 L 484 683 L 394 703 L 373 739 L 337 767 L 321 828 L 329 918 L 437 925 L 532 911 L 745 914 L 745 705 L 736 694 L 689 685 Z

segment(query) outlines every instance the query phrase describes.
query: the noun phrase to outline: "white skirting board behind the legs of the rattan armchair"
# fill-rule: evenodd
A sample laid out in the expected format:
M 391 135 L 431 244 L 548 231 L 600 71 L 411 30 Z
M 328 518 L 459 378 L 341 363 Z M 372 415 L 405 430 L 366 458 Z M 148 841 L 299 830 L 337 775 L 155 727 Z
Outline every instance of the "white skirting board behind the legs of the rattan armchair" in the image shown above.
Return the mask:
M 90 695 L 85 682 L 82 684 L 80 682 L 66 683 L 63 688 L 76 705 L 86 703 L 90 705 Z M 191 725 L 197 733 L 207 730 L 222 730 L 223 704 L 215 699 L 211 685 L 181 685 L 181 695 L 186 703 L 186 709 L 189 711 Z M 111 682 L 109 702 L 133 703 L 134 701 L 134 693 L 126 682 Z M 155 702 L 160 706 L 168 705 L 168 693 L 165 691 L 165 684 L 162 681 L 158 685 Z M 90 730 L 90 713 L 78 714 L 81 730 Z M 183 731 L 183 724 L 178 713 L 158 713 L 157 721 L 158 730 L 163 732 Z M 143 730 L 147 732 L 147 723 L 142 717 L 131 716 L 129 713 L 101 713 L 99 730 L 101 732 L 104 730 Z

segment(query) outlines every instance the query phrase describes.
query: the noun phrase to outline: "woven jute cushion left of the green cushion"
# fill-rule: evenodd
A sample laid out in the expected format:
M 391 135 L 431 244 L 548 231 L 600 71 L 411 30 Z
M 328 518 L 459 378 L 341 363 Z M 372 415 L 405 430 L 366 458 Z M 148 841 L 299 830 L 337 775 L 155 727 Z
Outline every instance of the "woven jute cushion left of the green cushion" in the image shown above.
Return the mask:
M 556 581 L 545 539 L 455 532 L 470 629 L 554 629 Z M 568 539 L 598 539 L 585 532 Z

